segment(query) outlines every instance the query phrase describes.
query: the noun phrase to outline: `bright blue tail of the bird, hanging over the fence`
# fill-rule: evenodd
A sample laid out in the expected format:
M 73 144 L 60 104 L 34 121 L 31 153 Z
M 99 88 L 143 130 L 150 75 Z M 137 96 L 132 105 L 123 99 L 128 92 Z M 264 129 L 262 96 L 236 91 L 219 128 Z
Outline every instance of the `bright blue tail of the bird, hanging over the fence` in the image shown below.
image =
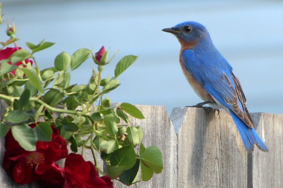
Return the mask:
M 231 116 L 233 117 L 233 120 L 237 126 L 237 129 L 240 133 L 240 136 L 242 138 L 243 144 L 248 152 L 252 152 L 254 150 L 254 145 L 264 151 L 268 152 L 268 148 L 264 144 L 264 142 L 261 140 L 259 135 L 256 133 L 254 128 L 248 127 L 236 114 L 234 114 L 230 110 Z

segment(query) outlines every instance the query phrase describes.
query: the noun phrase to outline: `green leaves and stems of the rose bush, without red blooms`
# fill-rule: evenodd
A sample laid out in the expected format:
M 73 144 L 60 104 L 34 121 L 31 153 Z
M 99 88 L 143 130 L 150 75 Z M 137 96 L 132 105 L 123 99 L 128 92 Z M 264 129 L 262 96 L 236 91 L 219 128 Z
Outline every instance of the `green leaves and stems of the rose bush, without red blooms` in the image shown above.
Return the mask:
M 7 41 L 11 43 L 16 39 Z M 3 46 L 6 43 L 1 43 Z M 26 43 L 31 50 L 18 50 L 8 59 L 1 61 L 0 98 L 8 103 L 0 124 L 0 137 L 11 127 L 12 135 L 27 151 L 34 151 L 37 141 L 51 141 L 52 128 L 59 129 L 60 135 L 68 141 L 73 152 L 91 149 L 96 161 L 96 150 L 107 163 L 107 175 L 119 179 L 126 185 L 148 181 L 154 172 L 163 169 L 162 155 L 157 147 L 144 148 L 141 144 L 144 132 L 141 127 L 132 127 L 131 118 L 143 119 L 141 111 L 134 105 L 122 103 L 113 106 L 105 96 L 117 88 L 116 78 L 121 75 L 138 56 L 125 56 L 116 65 L 114 77 L 101 78 L 104 66 L 108 65 L 106 51 L 100 61 L 94 53 L 81 48 L 70 56 L 58 54 L 54 67 L 39 70 L 30 63 L 17 67 L 13 63 L 32 58 L 34 53 L 54 43 L 41 41 L 39 44 Z M 98 65 L 86 85 L 70 85 L 73 70 L 85 62 L 90 55 Z M 8 62 L 12 62 L 10 65 Z M 16 70 L 15 75 L 10 72 Z M 130 118 L 131 117 L 131 118 Z M 37 122 L 40 118 L 44 122 Z M 36 123 L 33 129 L 28 125 Z M 135 147 L 140 145 L 139 155 Z M 83 152 L 82 152 L 83 155 Z M 96 164 L 97 165 L 97 164 Z M 101 167 L 96 166 L 100 171 Z M 141 169 L 141 179 L 138 180 Z

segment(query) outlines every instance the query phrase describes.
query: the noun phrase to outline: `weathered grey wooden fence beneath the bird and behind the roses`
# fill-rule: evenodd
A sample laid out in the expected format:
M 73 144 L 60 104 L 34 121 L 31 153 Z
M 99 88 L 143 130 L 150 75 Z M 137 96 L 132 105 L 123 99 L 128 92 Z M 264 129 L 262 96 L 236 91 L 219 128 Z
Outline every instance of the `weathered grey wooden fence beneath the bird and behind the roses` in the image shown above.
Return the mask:
M 136 107 L 146 119 L 132 119 L 131 124 L 143 129 L 146 147 L 155 145 L 161 149 L 164 170 L 133 187 L 283 187 L 283 115 L 251 113 L 256 131 L 269 152 L 255 148 L 247 153 L 231 116 L 225 111 L 217 115 L 213 110 L 207 114 L 202 108 L 174 108 L 169 117 L 164 106 Z M 1 164 L 3 154 L 2 138 Z M 91 153 L 86 151 L 84 158 L 92 161 Z M 102 167 L 103 161 L 99 164 Z M 1 168 L 0 187 L 37 188 L 38 185 L 17 185 Z M 127 186 L 115 182 L 114 187 Z

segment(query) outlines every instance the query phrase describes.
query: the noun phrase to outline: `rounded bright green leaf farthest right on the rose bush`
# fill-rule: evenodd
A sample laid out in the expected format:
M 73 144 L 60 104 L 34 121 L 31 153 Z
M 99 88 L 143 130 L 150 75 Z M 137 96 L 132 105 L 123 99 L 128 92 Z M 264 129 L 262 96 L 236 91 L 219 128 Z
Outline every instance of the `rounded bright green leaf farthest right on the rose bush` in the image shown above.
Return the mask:
M 158 174 L 162 172 L 163 169 L 162 154 L 158 149 L 158 147 L 149 146 L 140 155 L 139 159 L 144 165 L 153 169 L 155 173 Z

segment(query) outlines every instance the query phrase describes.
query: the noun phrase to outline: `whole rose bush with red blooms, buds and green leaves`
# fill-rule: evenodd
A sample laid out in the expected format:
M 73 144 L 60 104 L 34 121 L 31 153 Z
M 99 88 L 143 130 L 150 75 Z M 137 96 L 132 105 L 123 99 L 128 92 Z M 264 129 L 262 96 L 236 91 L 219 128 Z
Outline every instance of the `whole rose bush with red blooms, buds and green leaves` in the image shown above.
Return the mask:
M 145 148 L 141 127 L 131 126 L 131 118 L 144 118 L 140 110 L 129 103 L 112 105 L 105 96 L 119 87 L 117 78 L 138 56 L 124 56 L 113 77 L 102 78 L 101 73 L 118 51 L 108 60 L 104 46 L 96 53 L 86 48 L 72 55 L 62 52 L 53 67 L 40 70 L 34 53 L 54 43 L 26 43 L 26 50 L 17 46 L 15 24 L 8 22 L 6 33 L 10 38 L 0 42 L 0 99 L 8 107 L 1 114 L 0 137 L 6 135 L 3 167 L 17 183 L 39 180 L 42 187 L 112 188 L 112 179 L 132 185 L 162 172 L 160 150 Z M 15 47 L 6 48 L 10 44 Z M 89 82 L 71 84 L 72 71 L 90 57 L 98 67 Z M 83 159 L 85 150 L 91 150 L 94 164 Z M 98 157 L 107 163 L 107 174 Z M 64 158 L 65 165 L 59 166 Z

